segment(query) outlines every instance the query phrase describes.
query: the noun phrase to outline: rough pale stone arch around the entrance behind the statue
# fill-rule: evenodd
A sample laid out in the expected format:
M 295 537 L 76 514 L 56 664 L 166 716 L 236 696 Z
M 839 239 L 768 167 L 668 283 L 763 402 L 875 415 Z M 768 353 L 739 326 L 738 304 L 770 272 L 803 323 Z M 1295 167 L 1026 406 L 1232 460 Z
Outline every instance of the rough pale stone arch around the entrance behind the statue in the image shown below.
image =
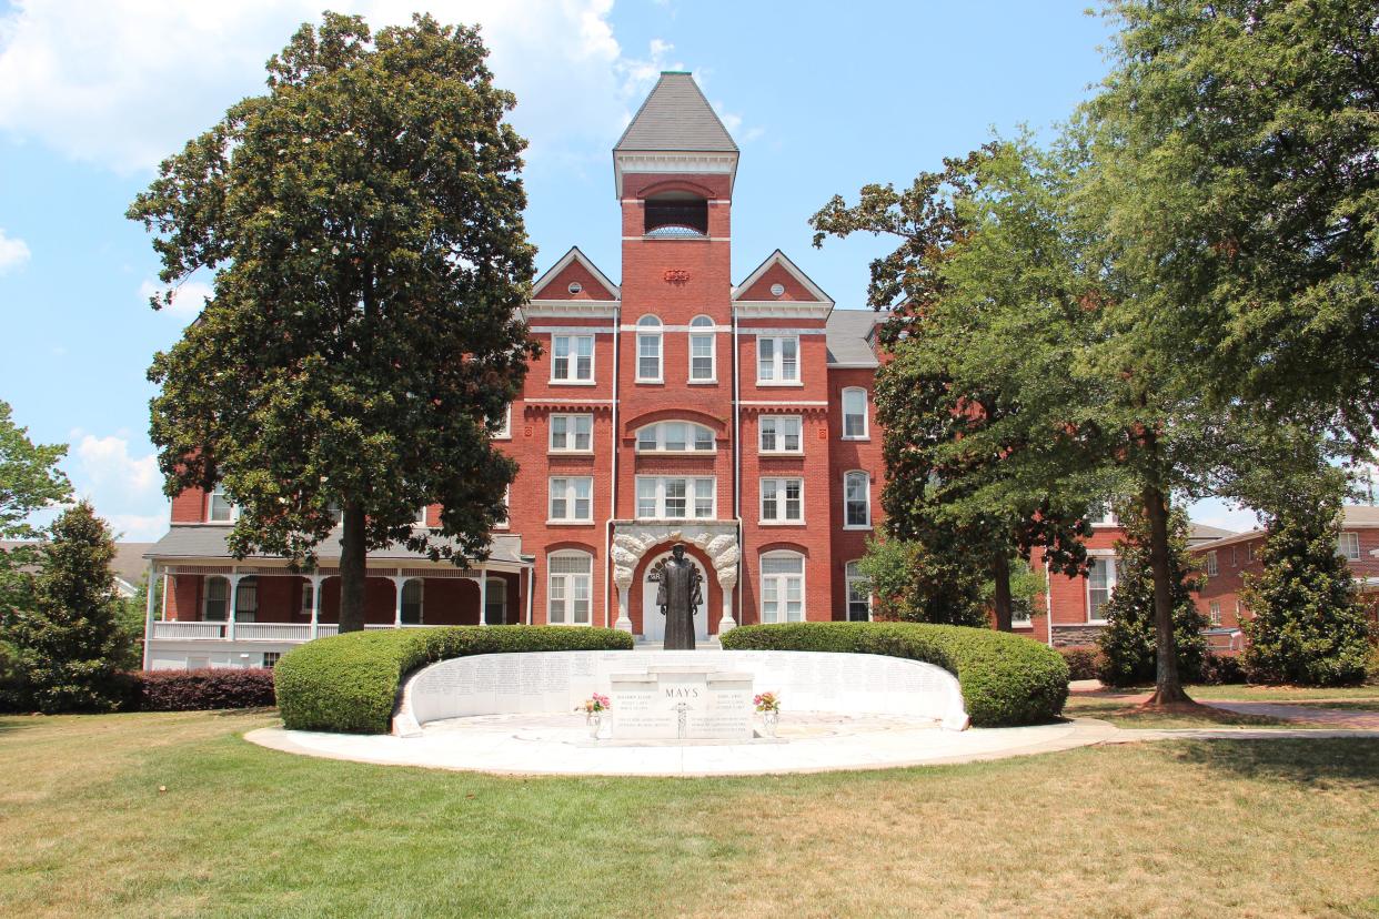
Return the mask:
M 684 525 L 614 521 L 612 577 L 618 587 L 616 628 L 633 631 L 632 603 L 636 602 L 638 609 L 641 606 L 638 581 L 645 579 L 644 569 L 659 553 L 669 551 L 676 543 L 684 543 L 687 553 L 703 568 L 707 581 L 705 587 L 710 597 L 705 617 L 712 617 L 716 606 L 720 610 L 718 627 L 710 627 L 709 631 L 723 634 L 736 626 L 732 619 L 732 590 L 738 583 L 742 553 L 735 521 L 695 521 Z

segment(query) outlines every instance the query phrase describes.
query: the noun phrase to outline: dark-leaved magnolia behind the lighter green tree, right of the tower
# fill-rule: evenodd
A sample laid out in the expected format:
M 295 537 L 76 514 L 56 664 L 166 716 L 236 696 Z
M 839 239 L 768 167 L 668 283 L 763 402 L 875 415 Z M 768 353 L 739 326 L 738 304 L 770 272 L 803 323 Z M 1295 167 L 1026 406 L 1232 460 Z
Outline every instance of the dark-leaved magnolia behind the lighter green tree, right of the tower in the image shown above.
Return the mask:
M 1038 547 L 1054 570 L 1078 575 L 1085 559 L 1080 537 L 1089 532 L 1087 502 L 1062 507 L 1047 492 L 974 485 L 979 470 L 990 471 L 1020 442 L 979 453 L 954 449 L 974 430 L 1022 411 L 1018 393 L 967 384 L 956 365 L 968 355 L 935 333 L 935 324 L 946 318 L 945 298 L 954 293 L 945 269 L 978 229 L 969 204 L 987 172 L 1011 154 L 1008 145 L 990 143 L 961 160 L 945 160 L 942 172 L 921 172 L 905 192 L 867 185 L 851 207 L 834 196 L 809 220 L 816 247 L 827 236 L 854 233 L 898 240 L 889 255 L 872 262 L 867 287 L 867 303 L 887 313 L 881 340 L 892 358 L 876 382 L 887 530 L 892 539 L 916 543 L 927 558 L 982 559 L 993 587 L 987 598 L 1003 631 L 1014 619 L 1012 562 L 1027 564 Z M 912 595 L 921 586 L 913 584 Z M 952 590 L 943 586 L 938 592 Z

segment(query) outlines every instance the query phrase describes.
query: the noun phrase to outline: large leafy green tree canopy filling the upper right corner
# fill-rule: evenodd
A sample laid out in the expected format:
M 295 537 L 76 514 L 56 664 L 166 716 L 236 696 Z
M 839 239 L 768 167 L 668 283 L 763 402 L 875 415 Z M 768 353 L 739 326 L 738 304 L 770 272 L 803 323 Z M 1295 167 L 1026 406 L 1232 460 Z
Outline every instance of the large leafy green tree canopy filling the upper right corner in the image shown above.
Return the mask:
M 1379 424 L 1372 0 L 1113 0 L 1083 117 L 1107 244 L 1216 401 Z M 1164 357 L 1160 349 L 1160 357 Z

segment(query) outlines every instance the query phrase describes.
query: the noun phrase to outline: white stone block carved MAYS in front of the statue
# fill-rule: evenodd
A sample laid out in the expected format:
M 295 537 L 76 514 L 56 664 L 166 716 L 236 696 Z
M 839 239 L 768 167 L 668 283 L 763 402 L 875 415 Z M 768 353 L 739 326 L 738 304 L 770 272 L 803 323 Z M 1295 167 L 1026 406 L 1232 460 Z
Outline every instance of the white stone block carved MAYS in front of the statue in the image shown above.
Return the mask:
M 610 674 L 615 740 L 752 740 L 752 674 L 694 664 Z

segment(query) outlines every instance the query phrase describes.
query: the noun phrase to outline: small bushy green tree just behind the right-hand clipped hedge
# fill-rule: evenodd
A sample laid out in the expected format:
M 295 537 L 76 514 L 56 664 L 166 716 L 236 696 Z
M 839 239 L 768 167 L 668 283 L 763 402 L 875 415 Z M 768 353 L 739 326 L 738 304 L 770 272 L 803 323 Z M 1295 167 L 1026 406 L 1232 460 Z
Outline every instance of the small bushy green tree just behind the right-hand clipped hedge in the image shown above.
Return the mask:
M 860 566 L 877 598 L 877 619 L 987 624 L 982 570 L 961 553 L 894 537 L 869 540 Z

